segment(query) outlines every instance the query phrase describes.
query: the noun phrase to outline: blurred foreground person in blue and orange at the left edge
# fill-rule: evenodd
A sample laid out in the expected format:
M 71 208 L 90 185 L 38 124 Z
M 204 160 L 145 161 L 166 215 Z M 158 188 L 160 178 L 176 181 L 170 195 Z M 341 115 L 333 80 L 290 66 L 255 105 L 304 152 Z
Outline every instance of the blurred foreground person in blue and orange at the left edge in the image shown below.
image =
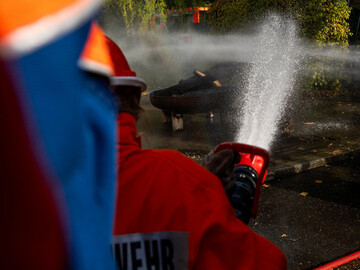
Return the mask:
M 0 269 L 114 267 L 116 104 L 91 27 L 100 5 L 0 3 Z

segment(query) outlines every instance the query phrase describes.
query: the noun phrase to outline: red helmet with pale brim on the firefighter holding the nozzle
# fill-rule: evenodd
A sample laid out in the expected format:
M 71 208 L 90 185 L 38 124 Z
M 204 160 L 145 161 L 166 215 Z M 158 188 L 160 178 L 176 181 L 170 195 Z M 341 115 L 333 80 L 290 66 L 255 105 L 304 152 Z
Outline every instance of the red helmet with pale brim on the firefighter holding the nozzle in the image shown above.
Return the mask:
M 136 73 L 130 69 L 125 55 L 120 50 L 119 46 L 109 37 L 106 37 L 106 43 L 108 45 L 115 70 L 115 75 L 110 78 L 111 85 L 136 86 L 139 87 L 141 91 L 145 91 L 146 82 L 143 79 L 136 77 Z

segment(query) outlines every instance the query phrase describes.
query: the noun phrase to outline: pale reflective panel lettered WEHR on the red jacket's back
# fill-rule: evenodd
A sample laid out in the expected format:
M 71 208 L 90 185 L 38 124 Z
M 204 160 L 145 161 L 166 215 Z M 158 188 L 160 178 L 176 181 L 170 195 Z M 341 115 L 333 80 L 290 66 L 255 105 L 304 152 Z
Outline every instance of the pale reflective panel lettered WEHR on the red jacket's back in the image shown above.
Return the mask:
M 189 233 L 116 235 L 112 250 L 117 269 L 188 269 Z

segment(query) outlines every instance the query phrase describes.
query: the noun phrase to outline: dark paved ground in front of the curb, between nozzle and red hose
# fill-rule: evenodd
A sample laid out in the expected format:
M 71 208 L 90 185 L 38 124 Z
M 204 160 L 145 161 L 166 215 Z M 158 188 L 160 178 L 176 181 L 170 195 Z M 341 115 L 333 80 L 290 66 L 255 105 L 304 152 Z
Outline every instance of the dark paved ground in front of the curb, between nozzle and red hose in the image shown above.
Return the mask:
M 281 248 L 289 270 L 360 250 L 359 157 L 268 181 L 250 226 Z

